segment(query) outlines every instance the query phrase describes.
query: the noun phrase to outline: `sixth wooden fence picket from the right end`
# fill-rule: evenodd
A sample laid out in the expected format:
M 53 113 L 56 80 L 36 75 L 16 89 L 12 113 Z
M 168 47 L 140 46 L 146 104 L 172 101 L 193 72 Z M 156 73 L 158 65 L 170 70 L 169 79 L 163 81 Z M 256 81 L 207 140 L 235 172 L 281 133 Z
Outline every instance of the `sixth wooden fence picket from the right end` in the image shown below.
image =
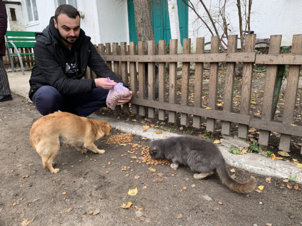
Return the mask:
M 196 54 L 204 53 L 204 38 L 196 39 Z M 195 63 L 194 107 L 202 106 L 203 63 Z M 193 116 L 193 127 L 200 128 L 200 116 Z

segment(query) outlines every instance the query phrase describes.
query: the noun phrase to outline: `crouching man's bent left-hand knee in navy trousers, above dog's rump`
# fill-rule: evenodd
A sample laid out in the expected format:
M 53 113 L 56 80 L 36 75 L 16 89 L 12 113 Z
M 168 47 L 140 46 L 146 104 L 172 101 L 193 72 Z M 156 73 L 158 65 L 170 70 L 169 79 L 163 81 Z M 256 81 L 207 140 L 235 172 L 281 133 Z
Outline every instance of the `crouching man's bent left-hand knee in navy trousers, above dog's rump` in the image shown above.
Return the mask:
M 57 89 L 45 85 L 39 88 L 34 97 L 34 104 L 41 115 L 46 116 L 62 108 L 63 96 Z

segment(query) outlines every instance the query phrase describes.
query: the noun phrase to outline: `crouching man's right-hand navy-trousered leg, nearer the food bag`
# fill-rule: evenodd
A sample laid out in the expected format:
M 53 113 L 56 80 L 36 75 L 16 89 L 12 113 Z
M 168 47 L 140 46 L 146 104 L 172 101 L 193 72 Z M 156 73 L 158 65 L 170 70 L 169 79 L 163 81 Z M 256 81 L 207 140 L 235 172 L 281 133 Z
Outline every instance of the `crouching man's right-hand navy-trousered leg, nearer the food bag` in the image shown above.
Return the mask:
M 69 112 L 76 111 L 78 116 L 87 117 L 96 110 L 106 107 L 106 98 L 109 90 L 101 87 L 94 88 L 90 93 L 80 93 L 64 96 L 64 105 Z

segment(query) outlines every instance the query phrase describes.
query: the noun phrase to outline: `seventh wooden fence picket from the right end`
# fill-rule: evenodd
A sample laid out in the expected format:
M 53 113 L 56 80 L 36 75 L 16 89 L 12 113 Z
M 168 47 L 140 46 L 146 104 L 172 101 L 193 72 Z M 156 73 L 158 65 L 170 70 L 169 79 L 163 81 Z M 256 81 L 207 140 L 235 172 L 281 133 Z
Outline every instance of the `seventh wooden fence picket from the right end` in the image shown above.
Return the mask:
M 183 39 L 183 54 L 191 53 L 191 39 Z M 188 105 L 190 62 L 183 62 L 181 76 L 181 105 Z M 188 115 L 180 114 L 180 125 L 188 126 Z

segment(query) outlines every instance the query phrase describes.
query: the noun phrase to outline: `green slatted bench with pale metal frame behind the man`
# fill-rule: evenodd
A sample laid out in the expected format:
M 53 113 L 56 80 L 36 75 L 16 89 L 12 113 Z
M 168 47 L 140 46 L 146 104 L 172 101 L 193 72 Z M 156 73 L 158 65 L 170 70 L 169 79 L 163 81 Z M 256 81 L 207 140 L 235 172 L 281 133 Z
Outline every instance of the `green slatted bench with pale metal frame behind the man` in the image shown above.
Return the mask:
M 13 56 L 18 56 L 22 74 L 25 74 L 21 56 L 34 55 L 34 53 L 20 53 L 18 48 L 33 48 L 36 42 L 35 32 L 7 31 L 5 37 L 9 48 L 12 71 L 15 71 Z M 15 49 L 15 53 L 13 53 L 12 49 Z

